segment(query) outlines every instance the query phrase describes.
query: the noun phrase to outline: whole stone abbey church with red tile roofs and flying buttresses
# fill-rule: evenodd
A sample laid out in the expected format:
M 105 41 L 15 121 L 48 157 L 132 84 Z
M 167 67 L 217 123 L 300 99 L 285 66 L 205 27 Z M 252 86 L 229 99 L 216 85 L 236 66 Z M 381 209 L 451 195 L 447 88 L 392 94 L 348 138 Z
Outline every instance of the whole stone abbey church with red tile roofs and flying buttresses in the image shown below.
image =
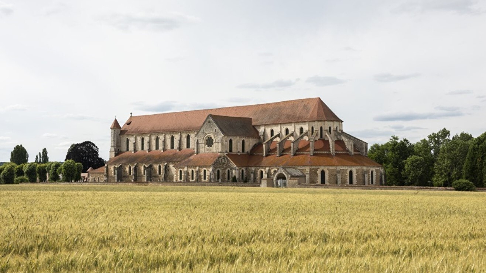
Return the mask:
M 367 143 L 320 98 L 130 116 L 110 130 L 92 182 L 384 184 Z

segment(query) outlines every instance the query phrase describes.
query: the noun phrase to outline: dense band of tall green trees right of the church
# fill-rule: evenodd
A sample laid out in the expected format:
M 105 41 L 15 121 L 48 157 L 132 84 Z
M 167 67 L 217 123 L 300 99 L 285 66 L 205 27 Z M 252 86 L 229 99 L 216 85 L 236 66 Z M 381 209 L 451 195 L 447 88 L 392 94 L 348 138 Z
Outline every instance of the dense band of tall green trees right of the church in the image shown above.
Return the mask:
M 391 136 L 373 144 L 368 156 L 383 165 L 386 185 L 453 187 L 458 180 L 486 185 L 486 132 L 476 138 L 465 132 L 451 137 L 444 128 L 417 143 Z

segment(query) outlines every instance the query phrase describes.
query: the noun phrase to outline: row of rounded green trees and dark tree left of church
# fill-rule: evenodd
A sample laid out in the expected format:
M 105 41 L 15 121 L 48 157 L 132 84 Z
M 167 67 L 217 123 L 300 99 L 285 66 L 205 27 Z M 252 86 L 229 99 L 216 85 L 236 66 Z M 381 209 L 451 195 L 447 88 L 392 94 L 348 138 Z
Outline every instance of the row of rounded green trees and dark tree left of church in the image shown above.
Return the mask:
M 29 154 L 22 145 L 10 153 L 10 162 L 0 166 L 0 184 L 22 182 L 73 182 L 81 180 L 81 173 L 89 167 L 104 166 L 98 147 L 91 141 L 72 144 L 64 162 L 50 162 L 47 149 L 35 155 L 29 163 Z

